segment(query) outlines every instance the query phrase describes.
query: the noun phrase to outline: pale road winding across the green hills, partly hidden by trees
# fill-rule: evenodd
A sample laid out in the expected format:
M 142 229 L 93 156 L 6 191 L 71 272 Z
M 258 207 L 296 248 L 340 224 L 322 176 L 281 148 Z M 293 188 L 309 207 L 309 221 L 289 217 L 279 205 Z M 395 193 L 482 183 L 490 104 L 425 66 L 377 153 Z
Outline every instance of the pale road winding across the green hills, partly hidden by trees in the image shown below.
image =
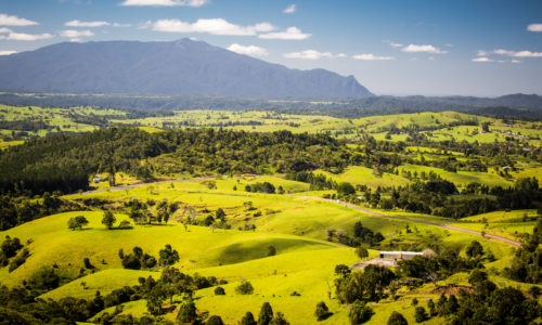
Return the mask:
M 137 188 L 139 186 L 143 185 L 149 185 L 149 184 L 162 184 L 162 183 L 179 183 L 179 182 L 191 182 L 191 181 L 204 181 L 204 180 L 209 180 L 209 179 L 215 179 L 216 177 L 202 177 L 202 178 L 194 178 L 194 179 L 184 179 L 184 180 L 165 180 L 165 181 L 155 181 L 155 182 L 149 182 L 149 183 L 137 183 L 137 184 L 131 184 L 131 185 L 124 185 L 124 186 L 116 186 L 116 187 L 109 187 L 107 188 L 108 191 L 121 191 L 121 190 L 132 190 Z M 105 192 L 107 190 L 94 190 L 94 191 L 87 191 L 83 192 L 82 194 L 92 194 L 92 193 L 101 193 Z M 297 198 L 306 198 L 306 199 L 317 199 L 317 200 L 323 200 L 323 202 L 328 202 L 328 203 L 334 203 L 334 204 L 339 204 L 341 206 L 348 207 L 350 209 L 354 209 L 364 213 L 373 214 L 373 216 L 378 216 L 383 218 L 388 218 L 388 219 L 396 219 L 396 220 L 402 220 L 402 221 L 410 221 L 414 223 L 423 223 L 423 224 L 429 224 L 429 225 L 435 225 L 435 226 L 440 226 L 443 229 L 456 231 L 456 232 L 462 232 L 462 233 L 467 233 L 467 234 L 473 234 L 473 235 L 478 235 L 481 236 L 481 232 L 477 232 L 474 230 L 469 229 L 464 229 L 464 227 L 459 227 L 454 225 L 449 225 L 446 223 L 437 223 L 437 222 L 430 222 L 430 221 L 422 221 L 422 220 L 415 220 L 415 219 L 409 219 L 409 218 L 403 218 L 403 217 L 393 217 L 393 216 L 387 216 L 379 212 L 371 211 L 367 209 L 360 208 L 358 206 L 354 206 L 352 204 L 341 202 L 341 200 L 336 200 L 336 199 L 330 199 L 330 198 L 323 198 L 323 197 L 318 197 L 318 196 L 306 196 L 306 195 L 288 195 L 291 197 L 297 197 Z M 501 243 L 506 243 L 516 247 L 520 247 L 521 243 L 512 240 L 505 237 L 496 236 L 496 235 L 490 235 L 490 234 L 485 234 L 485 237 L 495 239 Z

